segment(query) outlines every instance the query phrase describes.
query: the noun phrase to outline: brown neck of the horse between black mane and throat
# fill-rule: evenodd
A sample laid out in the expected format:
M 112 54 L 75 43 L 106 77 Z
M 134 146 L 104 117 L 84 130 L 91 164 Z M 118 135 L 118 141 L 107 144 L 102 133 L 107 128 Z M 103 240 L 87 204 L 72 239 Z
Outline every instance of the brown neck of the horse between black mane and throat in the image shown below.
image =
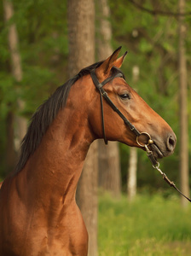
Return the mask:
M 30 196 L 37 195 L 34 200 L 38 200 L 39 194 L 47 201 L 49 197 L 65 203 L 74 200 L 78 178 L 94 140 L 86 114 L 72 109 L 68 100 L 66 108 L 57 114 L 40 145 L 27 160 L 21 172 L 26 174 Z

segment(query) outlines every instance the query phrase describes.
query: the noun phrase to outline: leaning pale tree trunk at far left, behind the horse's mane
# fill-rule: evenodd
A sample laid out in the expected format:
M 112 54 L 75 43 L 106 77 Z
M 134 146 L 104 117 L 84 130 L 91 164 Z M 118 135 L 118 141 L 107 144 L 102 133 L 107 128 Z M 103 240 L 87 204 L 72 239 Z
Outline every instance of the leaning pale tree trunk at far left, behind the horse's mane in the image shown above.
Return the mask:
M 19 40 L 18 40 L 15 24 L 14 23 L 9 24 L 9 21 L 14 15 L 14 7 L 12 4 L 12 1 L 3 0 L 3 10 L 4 10 L 4 20 L 9 26 L 8 44 L 9 44 L 9 51 L 10 51 L 10 58 L 11 58 L 11 61 L 10 61 L 11 72 L 16 82 L 20 82 L 22 80 L 22 68 L 21 68 L 20 52 L 19 52 Z M 20 99 L 17 99 L 17 108 L 18 108 L 17 112 L 19 113 L 20 111 L 22 111 L 24 107 L 25 107 L 24 102 L 22 102 Z M 11 165 L 14 166 L 14 161 L 15 161 L 14 144 L 15 144 L 15 149 L 19 151 L 20 143 L 26 134 L 27 122 L 25 118 L 17 114 L 15 115 L 13 112 L 9 112 L 9 116 L 7 120 L 9 120 L 9 123 L 7 124 L 9 125 L 9 129 L 7 130 L 7 157 L 6 158 L 7 158 L 8 169 L 10 169 Z M 14 122 L 16 123 L 15 131 L 14 131 Z M 14 140 L 16 143 L 14 143 Z

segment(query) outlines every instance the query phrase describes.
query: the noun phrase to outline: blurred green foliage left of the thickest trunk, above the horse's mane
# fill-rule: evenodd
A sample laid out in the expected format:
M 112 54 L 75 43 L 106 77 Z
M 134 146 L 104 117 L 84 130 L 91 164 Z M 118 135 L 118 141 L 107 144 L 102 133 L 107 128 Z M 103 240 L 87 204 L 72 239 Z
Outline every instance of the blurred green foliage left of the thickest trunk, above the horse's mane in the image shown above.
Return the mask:
M 6 148 L 6 117 L 9 111 L 31 118 L 32 113 L 56 87 L 67 79 L 67 4 L 61 0 L 14 0 L 14 16 L 6 24 L 0 4 L 0 173 Z M 16 82 L 11 71 L 8 44 L 10 25 L 16 25 L 23 79 Z M 26 104 L 22 113 L 20 98 Z

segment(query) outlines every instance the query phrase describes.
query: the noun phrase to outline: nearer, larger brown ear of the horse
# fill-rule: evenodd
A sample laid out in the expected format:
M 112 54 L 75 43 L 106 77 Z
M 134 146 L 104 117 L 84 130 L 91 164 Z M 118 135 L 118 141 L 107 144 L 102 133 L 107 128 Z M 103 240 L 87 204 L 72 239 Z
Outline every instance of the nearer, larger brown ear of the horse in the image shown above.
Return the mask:
M 96 68 L 96 76 L 100 81 L 107 77 L 113 66 L 116 66 L 115 62 L 117 61 L 120 49 L 121 46 L 116 49 L 113 54 L 106 59 L 106 61 L 103 61 L 100 67 Z

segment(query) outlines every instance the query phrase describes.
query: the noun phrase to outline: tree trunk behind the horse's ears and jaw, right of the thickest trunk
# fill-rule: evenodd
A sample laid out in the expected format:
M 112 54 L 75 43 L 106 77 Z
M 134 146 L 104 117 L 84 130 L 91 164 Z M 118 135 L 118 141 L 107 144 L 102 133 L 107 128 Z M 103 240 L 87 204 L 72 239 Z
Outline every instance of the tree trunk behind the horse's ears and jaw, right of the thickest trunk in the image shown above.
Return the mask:
M 99 21 L 98 58 L 106 59 L 113 53 L 111 47 L 112 28 L 109 21 L 110 9 L 107 0 L 100 0 L 97 5 Z M 106 135 L 107 136 L 107 135 Z M 108 142 L 106 146 L 103 140 L 98 141 L 98 160 L 99 160 L 99 186 L 114 196 L 121 193 L 121 173 L 119 164 L 119 143 Z

